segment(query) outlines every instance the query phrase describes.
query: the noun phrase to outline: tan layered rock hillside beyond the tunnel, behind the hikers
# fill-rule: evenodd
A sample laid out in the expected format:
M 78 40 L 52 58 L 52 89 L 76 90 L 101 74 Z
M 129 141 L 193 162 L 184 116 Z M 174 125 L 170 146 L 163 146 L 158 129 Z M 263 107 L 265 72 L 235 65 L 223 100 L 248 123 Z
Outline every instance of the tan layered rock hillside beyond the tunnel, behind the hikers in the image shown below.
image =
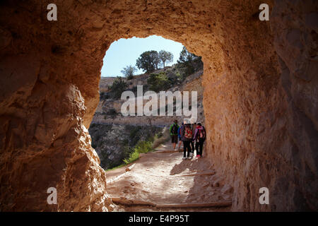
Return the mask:
M 158 70 L 154 73 L 160 73 L 164 70 Z M 189 110 L 192 109 L 192 91 L 196 92 L 196 121 L 200 121 L 201 123 L 204 123 L 204 107 L 203 107 L 203 94 L 204 94 L 204 88 L 202 86 L 202 75 L 203 70 L 196 71 L 192 75 L 187 76 L 187 78 L 184 78 L 184 81 L 180 83 L 175 83 L 172 85 L 172 88 L 169 88 L 168 90 L 165 90 L 166 92 L 171 91 L 172 93 L 175 93 L 176 91 L 180 91 L 182 93 L 182 97 L 184 97 L 183 92 L 187 91 L 189 92 Z M 175 76 L 175 73 L 172 75 Z M 133 79 L 129 81 L 125 81 L 126 84 L 128 84 L 127 89 L 128 90 L 135 90 L 135 97 L 137 97 L 136 93 L 136 86 L 137 85 L 143 85 L 143 93 L 146 93 L 146 91 L 149 90 L 148 88 L 148 74 L 143 74 L 141 76 L 134 76 Z M 170 126 L 172 122 L 177 119 L 179 124 L 182 124 L 182 121 L 184 118 L 191 118 L 192 115 L 184 117 L 182 116 L 167 116 L 168 112 L 166 109 L 165 116 L 160 116 L 160 95 L 157 93 L 158 97 L 158 103 L 157 103 L 157 114 L 158 116 L 151 116 L 148 117 L 146 115 L 143 116 L 137 116 L 137 109 L 138 107 L 143 108 L 149 100 L 146 98 L 143 100 L 143 105 L 138 105 L 137 101 L 135 99 L 135 116 L 129 115 L 123 116 L 122 115 L 122 105 L 126 100 L 116 100 L 111 97 L 111 94 L 109 93 L 109 90 L 106 90 L 105 87 L 108 87 L 108 85 L 112 85 L 112 80 L 110 78 L 101 78 L 100 79 L 100 90 L 104 90 L 104 92 L 100 93 L 100 102 L 98 103 L 98 107 L 95 111 L 94 117 L 93 117 L 93 124 L 122 124 L 122 125 L 134 125 L 134 126 Z M 108 92 L 107 92 L 108 91 Z M 130 100 L 130 98 L 129 98 Z M 166 102 L 167 105 L 167 102 Z M 175 107 L 175 104 L 174 104 Z M 112 109 L 114 112 L 108 112 L 110 109 Z M 175 110 L 174 110 L 175 111 Z

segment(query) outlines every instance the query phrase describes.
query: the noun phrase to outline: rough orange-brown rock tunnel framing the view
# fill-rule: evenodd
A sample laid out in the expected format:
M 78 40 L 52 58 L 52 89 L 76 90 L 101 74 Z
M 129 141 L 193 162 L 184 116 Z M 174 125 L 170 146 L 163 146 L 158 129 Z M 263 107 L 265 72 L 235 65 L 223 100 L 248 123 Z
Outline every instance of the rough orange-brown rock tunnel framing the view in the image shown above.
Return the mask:
M 51 3 L 57 21 L 47 20 Z M 204 61 L 207 156 L 234 188 L 232 210 L 318 209 L 317 1 L 0 5 L 1 211 L 113 210 L 88 126 L 110 44 L 149 35 Z M 261 187 L 269 205 L 259 205 Z

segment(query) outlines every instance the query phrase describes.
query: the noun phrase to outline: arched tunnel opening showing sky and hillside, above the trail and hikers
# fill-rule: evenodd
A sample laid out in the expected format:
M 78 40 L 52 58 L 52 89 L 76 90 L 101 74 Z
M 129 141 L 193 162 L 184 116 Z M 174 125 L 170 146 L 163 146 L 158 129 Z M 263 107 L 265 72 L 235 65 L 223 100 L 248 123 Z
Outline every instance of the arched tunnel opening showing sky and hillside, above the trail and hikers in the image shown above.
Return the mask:
M 100 156 L 101 167 L 107 170 L 123 165 L 124 160 L 130 162 L 129 156 L 135 153 L 135 148 L 141 148 L 145 142 L 147 145 L 148 142 L 155 143 L 155 148 L 165 142 L 163 138 L 155 137 L 162 134 L 163 128 L 169 129 L 175 119 L 181 125 L 183 119 L 192 118 L 195 114 L 196 119 L 192 120 L 204 122 L 201 57 L 188 52 L 181 43 L 158 36 L 145 39 L 136 37 L 119 39 L 112 44 L 114 45 L 111 45 L 104 57 L 103 68 L 105 69 L 102 68 L 101 71 L 101 75 L 104 76 L 100 78 L 99 85 L 100 102 L 88 130 L 92 138 L 92 146 Z M 165 66 L 160 59 L 165 57 L 160 56 L 162 51 L 166 55 L 172 54 L 172 58 L 165 62 Z M 153 55 L 155 58 L 148 59 L 148 55 L 144 55 L 147 53 L 155 54 Z M 129 56 L 121 57 L 122 54 Z M 131 76 L 129 71 L 131 78 L 127 77 L 123 69 L 126 69 L 127 65 L 130 67 L 134 65 L 133 68 L 136 69 L 136 61 L 143 63 L 139 65 L 141 66 L 139 74 L 135 70 L 134 76 Z M 148 64 L 153 64 L 153 61 L 157 66 L 152 71 L 147 71 Z M 110 73 L 110 71 L 115 72 Z M 122 73 L 121 78 L 105 76 L 105 74 L 118 75 L 119 73 Z M 168 94 L 169 92 L 171 93 Z M 192 92 L 196 94 L 196 98 L 192 97 Z M 129 99 L 122 99 L 124 93 L 129 93 Z M 162 100 L 163 95 L 165 95 L 164 100 Z M 142 102 L 139 102 L 139 98 L 143 99 Z M 185 99 L 188 100 L 188 107 L 184 104 Z M 127 102 L 133 100 L 133 105 L 129 104 L 123 109 Z M 177 104 L 177 100 L 181 103 Z M 192 102 L 195 102 L 193 108 Z M 181 107 L 178 111 L 177 105 Z M 128 115 L 123 113 L 126 110 Z M 182 112 L 191 114 L 184 115 Z M 114 136 L 114 131 L 121 131 L 119 137 L 117 134 L 111 138 Z M 110 145 L 105 145 L 107 143 Z M 144 148 L 141 149 L 140 151 L 144 152 Z M 122 151 L 118 152 L 118 150 Z M 139 153 L 135 154 L 139 155 Z

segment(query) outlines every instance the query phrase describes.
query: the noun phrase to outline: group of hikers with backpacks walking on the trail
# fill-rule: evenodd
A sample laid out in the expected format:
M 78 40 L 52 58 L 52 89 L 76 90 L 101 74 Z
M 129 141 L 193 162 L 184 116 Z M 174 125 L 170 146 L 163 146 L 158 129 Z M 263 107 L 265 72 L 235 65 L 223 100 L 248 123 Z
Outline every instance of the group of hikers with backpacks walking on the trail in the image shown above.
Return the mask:
M 173 149 L 175 150 L 179 139 L 178 150 L 183 142 L 182 160 L 191 159 L 196 150 L 196 157 L 202 157 L 203 145 L 206 140 L 206 129 L 200 122 L 191 123 L 189 119 L 184 119 L 182 126 L 175 120 L 170 126 L 170 136 Z

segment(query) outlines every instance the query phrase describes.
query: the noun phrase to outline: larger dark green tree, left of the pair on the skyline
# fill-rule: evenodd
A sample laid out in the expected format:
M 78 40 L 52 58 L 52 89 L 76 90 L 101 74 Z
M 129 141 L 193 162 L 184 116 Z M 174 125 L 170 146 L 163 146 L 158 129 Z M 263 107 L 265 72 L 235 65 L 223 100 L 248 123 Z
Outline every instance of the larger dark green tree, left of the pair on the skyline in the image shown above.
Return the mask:
M 143 52 L 136 61 L 136 66 L 147 73 L 151 73 L 158 69 L 160 58 L 157 51 L 151 50 Z

